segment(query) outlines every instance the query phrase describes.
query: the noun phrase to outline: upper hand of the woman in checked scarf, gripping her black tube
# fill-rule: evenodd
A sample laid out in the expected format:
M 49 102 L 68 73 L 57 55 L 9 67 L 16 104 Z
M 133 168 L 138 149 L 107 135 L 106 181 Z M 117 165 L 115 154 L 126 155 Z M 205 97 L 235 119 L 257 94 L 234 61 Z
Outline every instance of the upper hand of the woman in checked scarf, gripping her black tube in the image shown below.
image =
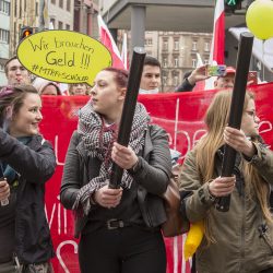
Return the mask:
M 121 168 L 130 169 L 138 162 L 138 156 L 130 146 L 126 147 L 114 142 L 111 159 Z

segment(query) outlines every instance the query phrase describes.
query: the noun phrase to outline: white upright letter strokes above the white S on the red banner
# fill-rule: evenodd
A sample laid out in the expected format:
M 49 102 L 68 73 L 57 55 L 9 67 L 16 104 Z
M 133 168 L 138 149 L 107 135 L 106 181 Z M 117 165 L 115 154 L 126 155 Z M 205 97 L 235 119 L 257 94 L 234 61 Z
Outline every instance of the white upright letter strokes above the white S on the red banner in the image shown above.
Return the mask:
M 49 229 L 51 229 L 52 222 L 56 215 L 56 205 L 58 205 L 58 212 L 57 212 L 57 223 L 58 223 L 58 234 L 61 235 L 62 232 L 63 234 L 68 234 L 68 212 L 67 210 L 62 206 L 60 203 L 60 195 L 57 197 L 57 203 L 54 203 L 51 214 L 50 214 L 50 219 L 48 221 L 48 204 L 45 205 L 45 213 L 46 213 L 46 218 L 49 225 Z M 62 213 L 61 213 L 62 212 Z M 63 227 L 62 227 L 63 224 Z

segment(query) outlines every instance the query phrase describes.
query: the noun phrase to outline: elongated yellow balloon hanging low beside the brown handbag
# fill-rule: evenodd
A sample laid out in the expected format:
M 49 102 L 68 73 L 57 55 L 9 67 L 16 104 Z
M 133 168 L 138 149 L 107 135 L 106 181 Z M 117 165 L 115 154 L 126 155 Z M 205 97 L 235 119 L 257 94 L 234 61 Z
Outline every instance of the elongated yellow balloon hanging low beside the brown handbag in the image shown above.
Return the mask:
M 202 241 L 203 235 L 204 224 L 202 221 L 190 226 L 190 230 L 183 245 L 183 257 L 186 261 L 195 253 Z

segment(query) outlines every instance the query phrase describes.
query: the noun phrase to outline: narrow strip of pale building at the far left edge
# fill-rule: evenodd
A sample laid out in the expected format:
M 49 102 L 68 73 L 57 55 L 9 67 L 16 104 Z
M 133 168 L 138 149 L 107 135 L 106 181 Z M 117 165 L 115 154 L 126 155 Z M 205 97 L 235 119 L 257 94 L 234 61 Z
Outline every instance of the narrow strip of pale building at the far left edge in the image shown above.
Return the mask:
M 0 0 L 0 85 L 7 83 L 4 63 L 10 57 L 10 0 Z

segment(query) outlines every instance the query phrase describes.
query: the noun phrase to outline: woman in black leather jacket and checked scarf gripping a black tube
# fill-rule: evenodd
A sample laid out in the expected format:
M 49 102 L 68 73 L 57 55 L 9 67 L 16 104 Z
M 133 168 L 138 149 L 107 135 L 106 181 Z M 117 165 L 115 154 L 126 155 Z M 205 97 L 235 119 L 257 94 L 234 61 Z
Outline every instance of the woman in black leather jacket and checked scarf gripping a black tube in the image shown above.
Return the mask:
M 161 195 L 171 169 L 168 138 L 138 103 L 129 146 L 116 142 L 127 84 L 123 70 L 96 75 L 66 157 L 60 199 L 76 215 L 82 273 L 166 272 Z M 124 169 L 118 189 L 109 188 L 112 163 Z

